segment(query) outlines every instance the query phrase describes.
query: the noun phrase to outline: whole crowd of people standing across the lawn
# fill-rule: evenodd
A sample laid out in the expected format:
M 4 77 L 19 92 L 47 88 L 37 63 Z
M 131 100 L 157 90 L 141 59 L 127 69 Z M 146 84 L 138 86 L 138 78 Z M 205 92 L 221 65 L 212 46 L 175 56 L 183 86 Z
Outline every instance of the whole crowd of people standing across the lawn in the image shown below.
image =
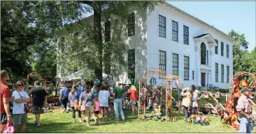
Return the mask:
M 26 124 L 28 122 L 27 113 L 29 112 L 28 103 L 31 101 L 30 96 L 32 95 L 33 109 L 32 113 L 35 115 L 35 125 L 41 126 L 40 115 L 43 113 L 43 106 L 47 100 L 46 90 L 40 86 L 40 82 L 34 83 L 29 93 L 24 91 L 24 83 L 17 81 L 16 90 L 12 93 L 8 85 L 10 84 L 10 78 L 6 71 L 1 70 L 1 133 L 6 128 L 6 124 L 11 123 L 17 133 L 18 126 L 21 126 L 21 133 L 24 133 Z M 86 126 L 90 126 L 91 117 L 94 118 L 94 122 L 99 124 L 99 113 L 101 112 L 102 118 L 108 121 L 111 120 L 109 115 L 109 100 L 110 97 L 114 99 L 114 111 L 115 121 L 125 121 L 125 115 L 123 112 L 123 104 L 125 94 L 129 94 L 129 104 L 131 105 L 131 114 L 134 115 L 136 110 L 136 104 L 138 103 L 138 96 L 141 98 L 141 105 L 145 108 L 155 108 L 159 106 L 161 102 L 161 92 L 157 86 L 144 86 L 142 92 L 138 92 L 135 85 L 131 85 L 129 90 L 127 87 L 121 86 L 120 82 L 115 83 L 115 87 L 108 87 L 104 84 L 94 83 L 92 87 L 86 85 L 85 81 L 80 85 L 73 85 L 71 89 L 65 85 L 60 85 L 61 90 L 59 94 L 59 101 L 62 103 L 63 112 L 67 111 L 67 103 L 70 103 L 72 109 L 73 122 L 76 122 L 76 112 L 78 114 L 79 122 L 83 122 L 81 115 L 85 115 Z M 241 90 L 242 96 L 239 98 L 236 110 L 239 111 L 240 119 L 240 132 L 250 133 L 253 131 L 253 122 L 250 119 L 250 102 L 248 96 L 250 90 L 247 87 L 243 87 Z M 220 94 L 220 91 L 218 91 Z M 185 87 L 180 94 L 183 98 L 181 106 L 185 112 L 185 119 L 189 118 L 191 114 L 199 114 L 199 99 L 200 92 L 192 85 Z M 220 101 L 220 99 L 218 99 Z M 11 105 L 11 103 L 13 103 Z M 12 110 L 10 108 L 12 106 Z M 249 131 L 248 131 L 249 130 Z

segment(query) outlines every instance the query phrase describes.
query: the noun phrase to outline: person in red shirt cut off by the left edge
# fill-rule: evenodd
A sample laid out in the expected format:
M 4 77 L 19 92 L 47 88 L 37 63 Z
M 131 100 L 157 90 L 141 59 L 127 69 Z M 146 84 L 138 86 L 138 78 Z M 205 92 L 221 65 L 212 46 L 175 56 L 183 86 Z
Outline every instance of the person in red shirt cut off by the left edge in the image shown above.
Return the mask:
M 6 71 L 1 70 L 1 133 L 6 128 L 7 122 L 13 123 L 10 114 L 10 89 L 8 87 L 10 78 Z

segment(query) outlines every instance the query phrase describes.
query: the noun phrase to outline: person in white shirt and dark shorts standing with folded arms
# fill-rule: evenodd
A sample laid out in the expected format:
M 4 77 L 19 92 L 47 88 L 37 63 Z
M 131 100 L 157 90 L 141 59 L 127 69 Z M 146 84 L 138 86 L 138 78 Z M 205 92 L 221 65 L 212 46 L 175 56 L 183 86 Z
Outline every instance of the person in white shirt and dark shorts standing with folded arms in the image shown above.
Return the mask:
M 21 125 L 21 133 L 24 133 L 27 124 L 27 113 L 24 111 L 24 104 L 30 101 L 27 92 L 23 90 L 24 84 L 22 81 L 17 81 L 17 90 L 13 91 L 13 124 L 15 126 L 15 133 L 17 127 Z

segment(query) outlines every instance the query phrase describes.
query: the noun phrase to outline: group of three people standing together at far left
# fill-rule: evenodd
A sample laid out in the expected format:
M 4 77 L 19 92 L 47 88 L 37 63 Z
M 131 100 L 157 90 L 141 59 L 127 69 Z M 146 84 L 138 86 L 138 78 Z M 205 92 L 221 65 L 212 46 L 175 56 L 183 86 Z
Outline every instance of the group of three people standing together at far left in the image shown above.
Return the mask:
M 40 115 L 43 113 L 43 106 L 47 99 L 47 92 L 40 86 L 40 82 L 34 83 L 29 93 L 24 91 L 24 83 L 17 81 L 16 88 L 13 92 L 10 91 L 8 85 L 10 77 L 6 71 L 1 70 L 1 133 L 6 128 L 6 124 L 14 126 L 15 133 L 20 126 L 20 133 L 24 133 L 28 122 L 27 113 L 30 111 L 28 103 L 31 101 L 32 95 L 33 109 L 37 127 L 40 127 Z

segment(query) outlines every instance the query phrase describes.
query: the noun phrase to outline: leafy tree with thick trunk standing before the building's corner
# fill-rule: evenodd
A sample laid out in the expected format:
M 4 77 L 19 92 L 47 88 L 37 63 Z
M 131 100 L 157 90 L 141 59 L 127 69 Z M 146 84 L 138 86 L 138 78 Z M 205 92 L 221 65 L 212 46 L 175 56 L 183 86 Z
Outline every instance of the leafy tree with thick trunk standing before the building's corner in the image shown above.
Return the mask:
M 127 31 L 127 18 L 133 10 L 140 9 L 138 15 L 146 12 L 147 9 L 151 12 L 157 1 L 78 1 L 85 4 L 83 6 L 89 12 L 94 12 L 93 23 L 90 25 L 90 19 L 76 22 L 64 28 L 67 36 L 64 40 L 69 47 L 65 47 L 65 52 L 60 64 L 66 67 L 66 70 L 73 69 L 74 66 L 94 70 L 93 78 L 102 79 L 102 72 L 111 72 L 113 76 L 118 76 L 125 71 L 127 62 L 125 62 L 125 54 L 127 47 L 123 41 L 123 36 L 127 36 L 124 31 Z M 146 13 L 145 13 L 146 14 Z M 102 22 L 110 21 L 111 25 L 111 41 L 104 42 L 102 33 L 105 33 Z M 81 38 L 75 37 L 73 34 L 76 30 L 82 31 Z M 59 31 L 62 35 L 63 31 Z M 138 33 L 139 34 L 139 33 Z M 78 42 L 75 42 L 78 40 Z M 86 49 L 85 51 L 83 51 Z M 82 63 L 79 63 L 83 61 Z M 109 67 L 111 65 L 111 67 Z M 106 70 L 110 69 L 110 70 Z M 89 74 L 87 74 L 88 77 Z

